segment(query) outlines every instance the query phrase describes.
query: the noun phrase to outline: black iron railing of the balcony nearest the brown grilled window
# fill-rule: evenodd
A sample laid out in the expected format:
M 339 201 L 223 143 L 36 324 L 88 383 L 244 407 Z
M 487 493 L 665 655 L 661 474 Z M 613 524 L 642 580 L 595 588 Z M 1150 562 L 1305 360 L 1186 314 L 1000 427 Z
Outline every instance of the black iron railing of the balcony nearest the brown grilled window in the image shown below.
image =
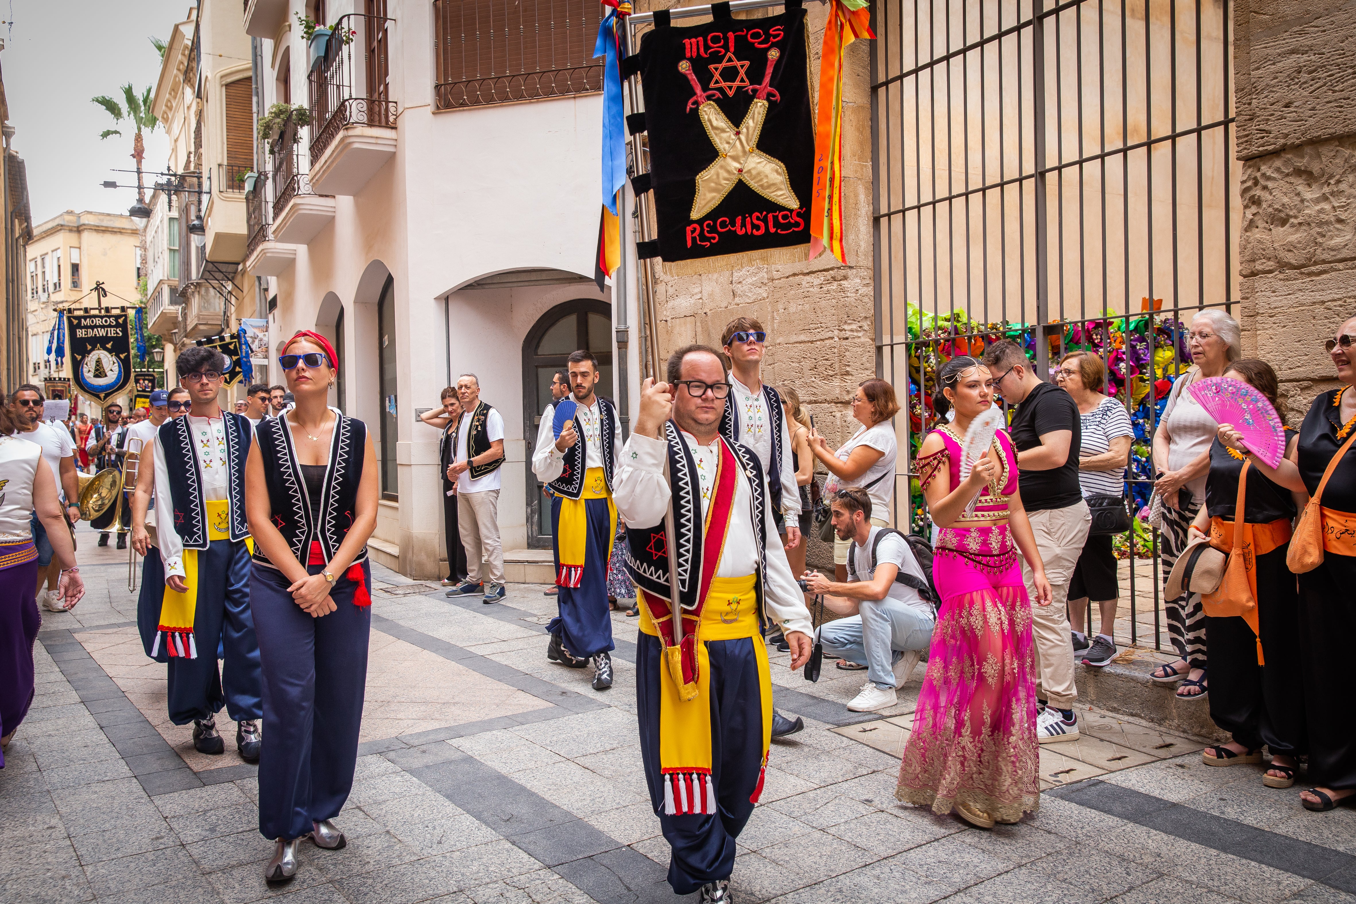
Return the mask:
M 319 160 L 344 126 L 396 126 L 388 45 L 395 19 L 339 16 L 324 58 L 311 70 L 311 159 Z

